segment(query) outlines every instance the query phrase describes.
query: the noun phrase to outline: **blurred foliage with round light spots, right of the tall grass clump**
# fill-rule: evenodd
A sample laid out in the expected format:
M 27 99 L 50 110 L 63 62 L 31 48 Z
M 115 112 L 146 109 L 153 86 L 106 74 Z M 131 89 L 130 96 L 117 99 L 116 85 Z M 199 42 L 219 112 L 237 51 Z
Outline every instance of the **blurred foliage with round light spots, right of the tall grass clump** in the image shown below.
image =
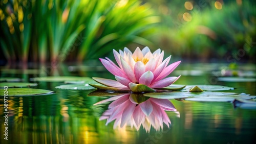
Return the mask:
M 252 60 L 256 9 L 250 1 L 151 1 L 162 23 L 152 38 L 166 52 L 191 60 Z M 255 60 L 255 59 L 254 59 Z

